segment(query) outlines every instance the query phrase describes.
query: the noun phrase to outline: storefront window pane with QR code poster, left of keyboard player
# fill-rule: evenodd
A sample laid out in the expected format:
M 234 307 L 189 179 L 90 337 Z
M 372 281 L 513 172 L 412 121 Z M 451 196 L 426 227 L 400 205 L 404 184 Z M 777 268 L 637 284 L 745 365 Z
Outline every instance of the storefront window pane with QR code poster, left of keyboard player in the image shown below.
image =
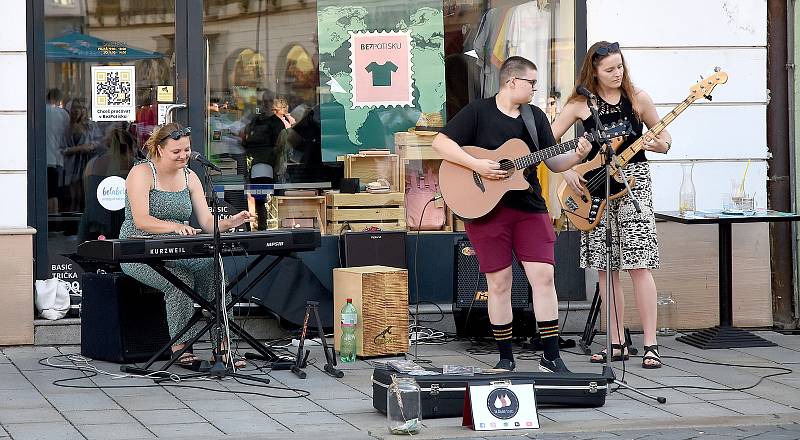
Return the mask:
M 172 2 L 45 1 L 48 254 L 115 238 L 121 179 L 174 84 Z M 122 194 L 120 196 L 120 194 Z

